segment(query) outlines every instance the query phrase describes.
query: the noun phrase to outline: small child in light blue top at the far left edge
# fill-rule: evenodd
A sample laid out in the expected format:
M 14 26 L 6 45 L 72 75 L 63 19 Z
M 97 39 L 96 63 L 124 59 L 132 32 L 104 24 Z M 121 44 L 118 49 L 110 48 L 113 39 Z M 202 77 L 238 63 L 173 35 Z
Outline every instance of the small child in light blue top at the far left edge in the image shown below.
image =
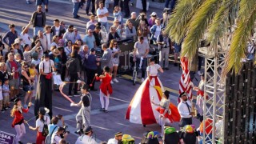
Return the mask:
M 5 78 L 2 85 L 2 95 L 3 95 L 3 107 L 10 109 L 10 89 L 9 89 L 9 79 Z

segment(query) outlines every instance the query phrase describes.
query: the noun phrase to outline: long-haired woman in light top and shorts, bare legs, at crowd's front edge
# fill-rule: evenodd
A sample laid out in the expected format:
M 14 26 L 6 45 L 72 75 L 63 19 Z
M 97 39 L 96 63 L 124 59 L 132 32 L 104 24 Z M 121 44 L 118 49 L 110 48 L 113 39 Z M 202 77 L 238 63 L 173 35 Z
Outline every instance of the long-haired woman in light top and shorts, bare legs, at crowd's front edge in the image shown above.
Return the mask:
M 118 82 L 117 73 L 118 73 L 118 65 L 119 65 L 119 55 L 121 54 L 121 50 L 118 47 L 118 41 L 115 39 L 112 39 L 110 42 L 110 50 L 112 51 L 112 64 L 113 64 L 113 69 L 110 69 L 110 73 L 112 74 L 112 71 L 114 72 L 113 75 L 113 81 Z M 111 81 L 112 83 L 112 81 Z

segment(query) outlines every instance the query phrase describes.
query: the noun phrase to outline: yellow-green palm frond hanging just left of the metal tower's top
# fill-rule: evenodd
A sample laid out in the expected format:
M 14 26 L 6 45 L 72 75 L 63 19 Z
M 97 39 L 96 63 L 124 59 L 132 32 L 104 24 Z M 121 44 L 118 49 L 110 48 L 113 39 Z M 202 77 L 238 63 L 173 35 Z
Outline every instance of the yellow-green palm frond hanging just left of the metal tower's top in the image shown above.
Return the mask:
M 218 10 L 220 0 L 207 0 L 198 8 L 194 17 L 191 19 L 186 38 L 182 44 L 182 56 L 192 59 L 198 49 L 199 40 L 206 32 L 211 18 Z

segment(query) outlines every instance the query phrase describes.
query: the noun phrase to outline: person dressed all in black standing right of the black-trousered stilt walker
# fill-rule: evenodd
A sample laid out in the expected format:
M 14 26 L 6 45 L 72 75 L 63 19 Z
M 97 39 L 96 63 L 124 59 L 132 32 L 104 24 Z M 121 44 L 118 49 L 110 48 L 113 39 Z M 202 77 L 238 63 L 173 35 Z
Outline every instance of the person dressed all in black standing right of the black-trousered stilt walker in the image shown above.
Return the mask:
M 80 78 L 81 65 L 78 59 L 78 51 L 73 50 L 71 53 L 71 58 L 66 62 L 66 68 L 70 74 L 70 82 L 77 82 Z M 73 88 L 73 83 L 70 83 L 69 86 L 69 97 L 73 97 L 71 94 Z M 78 95 L 78 83 L 74 84 L 74 96 Z

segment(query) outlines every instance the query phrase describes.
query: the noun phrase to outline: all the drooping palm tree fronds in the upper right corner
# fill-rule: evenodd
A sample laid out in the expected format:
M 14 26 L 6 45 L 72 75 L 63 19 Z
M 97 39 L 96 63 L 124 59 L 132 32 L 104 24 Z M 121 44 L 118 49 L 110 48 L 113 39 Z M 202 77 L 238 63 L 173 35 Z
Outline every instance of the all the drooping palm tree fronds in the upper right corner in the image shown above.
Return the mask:
M 237 23 L 236 23 L 237 22 Z M 223 73 L 242 68 L 246 57 L 246 43 L 253 34 L 256 22 L 255 0 L 178 0 L 166 28 L 174 42 L 182 42 L 182 56 L 190 60 L 197 53 L 200 39 L 206 38 L 211 48 L 218 49 L 227 32 L 236 26 L 230 38 Z M 254 62 L 256 63 L 256 62 Z

